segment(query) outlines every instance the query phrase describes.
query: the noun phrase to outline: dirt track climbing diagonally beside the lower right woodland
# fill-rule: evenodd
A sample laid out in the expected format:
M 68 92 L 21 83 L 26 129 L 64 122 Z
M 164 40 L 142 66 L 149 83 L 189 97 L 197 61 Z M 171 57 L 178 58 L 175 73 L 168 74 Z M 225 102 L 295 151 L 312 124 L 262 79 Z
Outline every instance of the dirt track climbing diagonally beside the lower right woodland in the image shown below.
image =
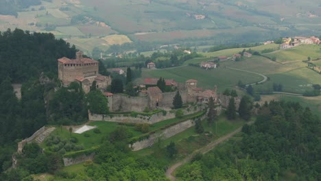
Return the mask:
M 254 121 L 250 121 L 248 122 L 247 124 L 248 125 L 251 125 L 252 123 L 254 123 Z M 174 173 L 174 171 L 180 167 L 181 165 L 185 164 L 186 162 L 188 162 L 189 160 L 191 160 L 191 158 L 193 158 L 193 156 L 195 156 L 195 154 L 206 154 L 207 152 L 211 151 L 211 149 L 215 148 L 217 145 L 219 145 L 219 143 L 222 143 L 226 140 L 228 140 L 228 138 L 234 136 L 235 134 L 237 134 L 238 132 L 241 132 L 242 130 L 242 127 L 241 126 L 240 128 L 237 128 L 237 130 L 229 133 L 229 134 L 226 134 L 225 136 L 222 136 L 221 138 L 218 138 L 217 140 L 209 143 L 209 145 L 206 145 L 200 149 L 197 149 L 195 150 L 192 154 L 190 154 L 189 156 L 187 156 L 186 158 L 184 158 L 183 160 L 180 160 L 180 162 L 177 162 L 175 165 L 171 165 L 166 173 L 165 173 L 165 176 L 167 178 L 169 178 L 170 180 L 176 180 L 176 178 L 172 175 L 172 173 Z

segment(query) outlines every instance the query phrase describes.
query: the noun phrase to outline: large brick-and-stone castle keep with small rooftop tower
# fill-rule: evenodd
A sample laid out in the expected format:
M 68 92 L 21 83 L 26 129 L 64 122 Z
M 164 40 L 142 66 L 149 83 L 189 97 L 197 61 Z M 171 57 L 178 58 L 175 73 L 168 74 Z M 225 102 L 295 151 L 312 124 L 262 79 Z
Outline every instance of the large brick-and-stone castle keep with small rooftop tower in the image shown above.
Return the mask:
M 64 86 L 71 82 L 79 82 L 85 93 L 88 93 L 96 81 L 97 88 L 105 89 L 111 84 L 111 78 L 98 73 L 99 62 L 91 58 L 83 58 L 82 51 L 76 53 L 75 59 L 66 57 L 58 59 L 58 78 Z

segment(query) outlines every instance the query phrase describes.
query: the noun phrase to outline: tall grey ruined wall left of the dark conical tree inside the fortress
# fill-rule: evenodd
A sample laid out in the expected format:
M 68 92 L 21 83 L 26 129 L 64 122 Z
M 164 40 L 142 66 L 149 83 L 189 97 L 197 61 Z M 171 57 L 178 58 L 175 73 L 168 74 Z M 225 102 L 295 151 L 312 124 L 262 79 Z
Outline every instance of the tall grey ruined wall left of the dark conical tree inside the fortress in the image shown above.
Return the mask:
M 111 100 L 111 101 L 110 101 Z M 109 110 L 115 111 L 136 111 L 143 112 L 146 107 L 149 107 L 149 99 L 145 97 L 131 97 L 129 95 L 115 94 L 108 97 Z

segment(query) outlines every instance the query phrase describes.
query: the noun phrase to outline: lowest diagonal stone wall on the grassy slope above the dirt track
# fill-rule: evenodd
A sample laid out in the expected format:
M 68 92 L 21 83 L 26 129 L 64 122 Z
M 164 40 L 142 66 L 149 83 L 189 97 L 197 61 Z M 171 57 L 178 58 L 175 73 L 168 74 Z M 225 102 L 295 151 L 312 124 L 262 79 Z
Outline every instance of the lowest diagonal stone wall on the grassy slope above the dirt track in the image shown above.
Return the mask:
M 182 131 L 187 130 L 188 128 L 191 128 L 193 125 L 195 125 L 195 121 L 189 119 L 187 121 L 184 121 L 182 123 L 178 123 L 176 125 L 173 125 L 159 133 L 153 134 L 150 136 L 150 138 L 147 138 L 143 141 L 137 141 L 133 143 L 132 145 L 129 145 L 133 151 L 137 151 L 140 149 L 143 149 L 145 147 L 150 147 L 154 143 L 158 141 L 158 138 L 160 139 L 166 139 L 170 138 L 171 136 L 174 136 Z

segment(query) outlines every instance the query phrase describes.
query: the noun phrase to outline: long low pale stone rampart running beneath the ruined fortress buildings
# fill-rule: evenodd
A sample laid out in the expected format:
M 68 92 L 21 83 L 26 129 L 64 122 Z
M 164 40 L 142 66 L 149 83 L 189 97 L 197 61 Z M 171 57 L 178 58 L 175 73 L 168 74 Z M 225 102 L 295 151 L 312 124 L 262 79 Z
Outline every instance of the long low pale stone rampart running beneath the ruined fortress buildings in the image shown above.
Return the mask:
M 184 115 L 193 114 L 195 112 L 200 112 L 204 110 L 206 106 L 204 105 L 195 105 L 190 106 L 189 108 L 184 108 Z M 119 123 L 149 123 L 154 124 L 159 121 L 163 121 L 166 119 L 175 118 L 175 110 L 167 111 L 166 113 L 163 111 L 152 114 L 151 116 L 143 115 L 143 114 L 88 114 L 88 119 L 90 121 L 111 121 L 111 122 L 119 122 Z

